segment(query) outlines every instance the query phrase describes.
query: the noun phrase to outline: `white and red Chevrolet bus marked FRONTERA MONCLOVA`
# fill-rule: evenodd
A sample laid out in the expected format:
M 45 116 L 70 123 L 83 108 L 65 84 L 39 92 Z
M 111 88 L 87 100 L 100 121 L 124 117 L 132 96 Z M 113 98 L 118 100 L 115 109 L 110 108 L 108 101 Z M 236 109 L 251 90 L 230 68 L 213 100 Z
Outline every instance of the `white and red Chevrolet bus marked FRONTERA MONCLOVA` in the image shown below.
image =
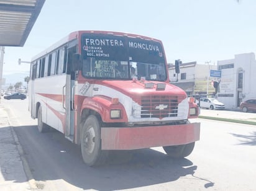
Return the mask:
M 77 31 L 32 59 L 29 110 L 81 145 L 83 161 L 109 150 L 163 146 L 184 158 L 199 140 L 198 105 L 169 83 L 160 40 L 121 32 Z

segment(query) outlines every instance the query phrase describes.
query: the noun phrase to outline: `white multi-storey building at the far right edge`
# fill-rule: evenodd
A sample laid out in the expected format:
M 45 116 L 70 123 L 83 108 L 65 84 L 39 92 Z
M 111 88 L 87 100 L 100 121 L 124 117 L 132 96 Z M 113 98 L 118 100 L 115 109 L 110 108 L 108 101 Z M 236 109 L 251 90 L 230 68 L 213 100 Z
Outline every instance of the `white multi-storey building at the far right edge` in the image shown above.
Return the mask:
M 217 62 L 221 71 L 217 99 L 227 109 L 237 109 L 240 102 L 256 98 L 256 61 L 254 53 L 235 55 L 234 59 Z

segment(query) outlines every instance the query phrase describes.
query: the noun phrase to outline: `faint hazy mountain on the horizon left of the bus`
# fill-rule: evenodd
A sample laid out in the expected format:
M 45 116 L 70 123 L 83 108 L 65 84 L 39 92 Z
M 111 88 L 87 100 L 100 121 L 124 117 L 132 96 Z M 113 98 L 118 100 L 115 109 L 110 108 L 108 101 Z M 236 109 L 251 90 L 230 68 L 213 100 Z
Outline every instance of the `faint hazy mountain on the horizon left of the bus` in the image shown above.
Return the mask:
M 5 89 L 4 87 L 9 87 L 10 85 L 14 86 L 14 84 L 17 82 L 22 82 L 23 86 L 27 86 L 27 83 L 24 81 L 25 77 L 27 76 L 29 76 L 29 71 L 22 73 L 2 74 L 2 78 L 5 79 L 5 84 L 2 84 L 2 89 Z M 4 82 L 4 80 L 2 82 Z

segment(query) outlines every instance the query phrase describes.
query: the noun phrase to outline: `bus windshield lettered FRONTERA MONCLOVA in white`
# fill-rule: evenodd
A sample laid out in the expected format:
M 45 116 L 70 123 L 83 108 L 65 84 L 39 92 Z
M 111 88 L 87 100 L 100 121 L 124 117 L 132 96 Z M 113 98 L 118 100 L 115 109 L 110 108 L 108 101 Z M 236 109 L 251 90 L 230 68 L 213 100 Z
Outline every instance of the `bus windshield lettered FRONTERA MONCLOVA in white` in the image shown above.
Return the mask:
M 85 78 L 165 81 L 167 71 L 159 42 L 114 35 L 82 35 Z

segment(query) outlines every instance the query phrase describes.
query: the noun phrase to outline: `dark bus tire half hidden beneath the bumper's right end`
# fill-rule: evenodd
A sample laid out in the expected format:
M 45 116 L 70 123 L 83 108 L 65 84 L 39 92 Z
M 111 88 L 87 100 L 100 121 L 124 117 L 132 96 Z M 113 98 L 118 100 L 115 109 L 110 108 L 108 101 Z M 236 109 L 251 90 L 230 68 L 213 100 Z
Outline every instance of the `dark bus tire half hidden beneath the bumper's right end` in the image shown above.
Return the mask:
M 192 153 L 194 149 L 194 142 L 175 146 L 163 146 L 163 149 L 165 150 L 165 153 L 167 153 L 168 156 L 170 156 L 170 158 L 185 158 L 186 156 L 189 156 Z

